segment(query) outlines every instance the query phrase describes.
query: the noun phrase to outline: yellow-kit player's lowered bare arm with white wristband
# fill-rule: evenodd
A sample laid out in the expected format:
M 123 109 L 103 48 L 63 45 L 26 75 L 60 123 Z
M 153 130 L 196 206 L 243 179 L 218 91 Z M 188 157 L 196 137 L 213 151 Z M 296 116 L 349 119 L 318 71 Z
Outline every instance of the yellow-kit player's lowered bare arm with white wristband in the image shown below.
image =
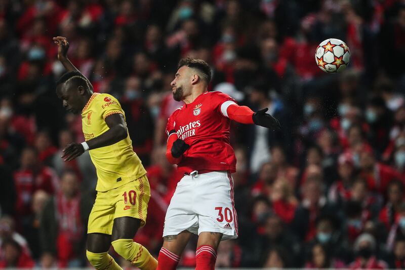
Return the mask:
M 127 124 L 124 115 L 114 113 L 105 118 L 109 130 L 100 136 L 83 143 L 70 143 L 62 150 L 62 159 L 71 161 L 82 155 L 85 151 L 114 144 L 128 137 Z

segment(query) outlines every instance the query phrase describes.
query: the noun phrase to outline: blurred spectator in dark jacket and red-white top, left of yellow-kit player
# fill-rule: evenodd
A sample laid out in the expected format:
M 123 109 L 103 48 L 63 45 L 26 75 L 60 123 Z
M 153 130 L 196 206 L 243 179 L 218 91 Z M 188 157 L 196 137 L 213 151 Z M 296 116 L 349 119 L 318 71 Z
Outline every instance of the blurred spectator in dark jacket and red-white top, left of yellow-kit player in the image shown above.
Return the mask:
M 78 177 L 66 171 L 60 180 L 60 192 L 45 205 L 39 234 L 42 251 L 54 256 L 60 267 L 82 265 L 84 236 L 91 204 L 78 191 Z

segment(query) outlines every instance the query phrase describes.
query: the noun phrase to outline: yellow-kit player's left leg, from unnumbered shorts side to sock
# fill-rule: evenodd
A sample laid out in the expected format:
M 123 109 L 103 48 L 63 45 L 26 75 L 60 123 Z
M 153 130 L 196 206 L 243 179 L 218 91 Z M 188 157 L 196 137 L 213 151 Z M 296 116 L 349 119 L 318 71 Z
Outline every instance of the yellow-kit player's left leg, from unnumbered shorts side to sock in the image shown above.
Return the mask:
M 98 192 L 89 216 L 86 256 L 96 269 L 122 270 L 108 254 L 111 246 L 114 208 L 106 203 L 104 192 Z

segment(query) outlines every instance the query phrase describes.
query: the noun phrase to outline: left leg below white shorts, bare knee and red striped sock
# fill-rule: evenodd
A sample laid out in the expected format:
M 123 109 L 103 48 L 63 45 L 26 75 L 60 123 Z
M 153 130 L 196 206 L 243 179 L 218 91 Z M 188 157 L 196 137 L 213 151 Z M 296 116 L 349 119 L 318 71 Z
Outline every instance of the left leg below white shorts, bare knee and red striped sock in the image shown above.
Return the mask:
M 163 238 L 163 247 L 160 249 L 159 257 L 157 258 L 157 270 L 176 269 L 180 256 L 191 235 L 188 230 L 184 230 L 178 235 L 170 235 Z

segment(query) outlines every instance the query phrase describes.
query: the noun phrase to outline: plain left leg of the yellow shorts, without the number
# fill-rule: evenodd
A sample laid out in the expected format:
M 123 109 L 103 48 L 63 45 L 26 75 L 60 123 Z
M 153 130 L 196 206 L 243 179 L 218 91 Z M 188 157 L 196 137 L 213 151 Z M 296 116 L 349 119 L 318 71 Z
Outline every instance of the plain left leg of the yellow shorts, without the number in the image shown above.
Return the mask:
M 110 190 L 97 192 L 96 201 L 89 215 L 88 234 L 112 234 L 115 207 L 111 204 Z

